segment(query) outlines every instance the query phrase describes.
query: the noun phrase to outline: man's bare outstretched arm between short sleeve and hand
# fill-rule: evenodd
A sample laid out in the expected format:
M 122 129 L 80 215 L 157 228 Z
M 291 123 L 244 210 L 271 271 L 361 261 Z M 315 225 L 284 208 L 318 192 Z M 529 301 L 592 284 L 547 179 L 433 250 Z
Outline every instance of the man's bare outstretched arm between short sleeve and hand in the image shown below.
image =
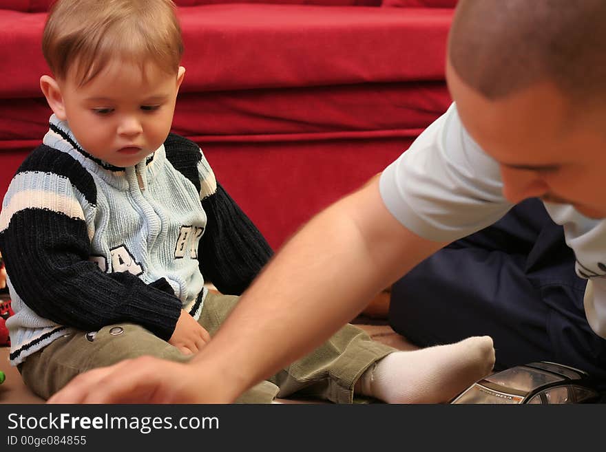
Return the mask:
M 404 228 L 385 207 L 375 177 L 284 246 L 193 364 L 217 366 L 226 386 L 244 391 L 322 344 L 444 245 Z

